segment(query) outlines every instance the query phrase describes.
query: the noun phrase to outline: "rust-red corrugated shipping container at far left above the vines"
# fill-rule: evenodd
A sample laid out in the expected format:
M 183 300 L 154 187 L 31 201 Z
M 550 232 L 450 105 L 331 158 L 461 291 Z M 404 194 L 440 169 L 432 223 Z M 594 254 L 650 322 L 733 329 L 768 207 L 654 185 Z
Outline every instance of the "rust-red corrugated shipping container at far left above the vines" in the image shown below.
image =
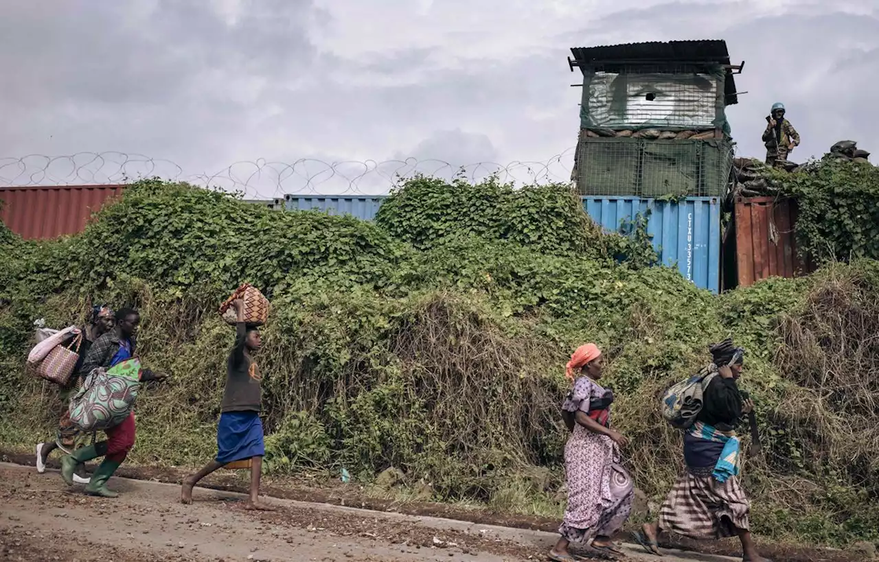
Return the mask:
M 82 232 L 91 213 L 125 185 L 0 187 L 0 219 L 28 240 Z

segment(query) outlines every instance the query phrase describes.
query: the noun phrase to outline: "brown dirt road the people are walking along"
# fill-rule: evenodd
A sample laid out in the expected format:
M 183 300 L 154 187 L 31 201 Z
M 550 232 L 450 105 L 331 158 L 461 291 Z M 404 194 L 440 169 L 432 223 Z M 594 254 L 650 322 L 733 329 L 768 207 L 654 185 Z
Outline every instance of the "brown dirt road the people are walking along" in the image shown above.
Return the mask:
M 543 560 L 550 533 L 431 517 L 270 500 L 271 513 L 242 509 L 239 494 L 113 479 L 116 500 L 84 496 L 57 472 L 0 464 L 0 559 L 59 562 L 410 562 Z M 681 555 L 684 556 L 684 555 Z M 653 559 L 632 550 L 633 560 Z M 665 562 L 730 558 L 690 554 Z

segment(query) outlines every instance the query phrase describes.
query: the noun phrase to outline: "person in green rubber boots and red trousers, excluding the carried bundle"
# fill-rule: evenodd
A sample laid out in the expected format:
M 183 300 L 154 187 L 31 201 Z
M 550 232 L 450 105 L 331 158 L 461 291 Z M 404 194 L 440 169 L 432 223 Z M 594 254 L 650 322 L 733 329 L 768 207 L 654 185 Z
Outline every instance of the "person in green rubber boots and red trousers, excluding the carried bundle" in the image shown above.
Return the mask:
M 141 315 L 134 309 L 123 308 L 116 313 L 116 328 L 99 337 L 98 341 L 91 346 L 83 362 L 83 374 L 87 376 L 98 368 L 109 369 L 134 357 L 134 336 L 137 334 L 140 323 Z M 140 379 L 142 382 L 147 382 L 163 378 L 149 369 L 144 369 Z M 128 414 L 125 421 L 119 425 L 105 429 L 105 434 L 107 436 L 105 441 L 99 441 L 62 457 L 61 475 L 62 479 L 70 486 L 74 481 L 73 474 L 76 471 L 76 465 L 93 458 L 104 457 L 104 462 L 98 465 L 98 469 L 91 475 L 91 481 L 85 486 L 85 493 L 115 498 L 119 494 L 109 490 L 106 483 L 113 476 L 113 472 L 116 472 L 116 469 L 125 461 L 128 451 L 134 447 L 134 412 Z

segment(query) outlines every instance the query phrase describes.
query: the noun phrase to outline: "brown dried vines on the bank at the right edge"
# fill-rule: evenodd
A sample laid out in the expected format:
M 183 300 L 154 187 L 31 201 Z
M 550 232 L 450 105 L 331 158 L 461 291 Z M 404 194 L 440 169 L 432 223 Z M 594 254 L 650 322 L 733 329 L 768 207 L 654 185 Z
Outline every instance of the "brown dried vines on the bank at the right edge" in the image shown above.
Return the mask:
M 831 273 L 803 313 L 781 323 L 777 363 L 800 388 L 778 408 L 809 465 L 845 467 L 874 488 L 879 458 L 879 293 L 863 277 Z

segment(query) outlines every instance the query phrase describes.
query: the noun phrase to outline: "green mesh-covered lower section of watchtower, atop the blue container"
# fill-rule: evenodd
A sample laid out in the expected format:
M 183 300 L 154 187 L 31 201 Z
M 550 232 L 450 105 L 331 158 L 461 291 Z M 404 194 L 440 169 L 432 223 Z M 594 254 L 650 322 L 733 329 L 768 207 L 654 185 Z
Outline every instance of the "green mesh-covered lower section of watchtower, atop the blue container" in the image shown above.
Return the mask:
M 721 197 L 732 152 L 728 140 L 581 135 L 572 177 L 580 195 Z

